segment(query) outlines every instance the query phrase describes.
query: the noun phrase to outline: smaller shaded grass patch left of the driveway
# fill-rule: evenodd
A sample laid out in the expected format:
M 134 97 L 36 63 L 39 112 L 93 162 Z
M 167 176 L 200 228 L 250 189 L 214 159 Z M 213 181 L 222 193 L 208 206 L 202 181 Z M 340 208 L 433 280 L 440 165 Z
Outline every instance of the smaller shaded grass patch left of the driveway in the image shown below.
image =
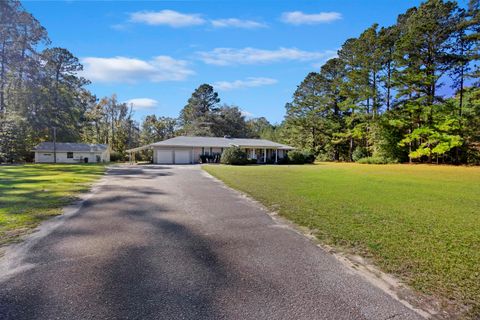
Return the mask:
M 0 166 L 0 245 L 60 214 L 104 171 L 95 164 Z

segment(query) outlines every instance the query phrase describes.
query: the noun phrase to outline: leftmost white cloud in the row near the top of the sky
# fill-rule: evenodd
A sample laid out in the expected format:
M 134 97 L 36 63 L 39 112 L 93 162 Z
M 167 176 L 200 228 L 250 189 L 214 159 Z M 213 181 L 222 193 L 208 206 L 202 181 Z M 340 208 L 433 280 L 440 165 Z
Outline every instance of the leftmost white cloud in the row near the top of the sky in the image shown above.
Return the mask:
M 138 11 L 130 14 L 130 21 L 152 26 L 166 25 L 174 28 L 196 26 L 205 23 L 199 14 L 186 14 L 173 10 Z

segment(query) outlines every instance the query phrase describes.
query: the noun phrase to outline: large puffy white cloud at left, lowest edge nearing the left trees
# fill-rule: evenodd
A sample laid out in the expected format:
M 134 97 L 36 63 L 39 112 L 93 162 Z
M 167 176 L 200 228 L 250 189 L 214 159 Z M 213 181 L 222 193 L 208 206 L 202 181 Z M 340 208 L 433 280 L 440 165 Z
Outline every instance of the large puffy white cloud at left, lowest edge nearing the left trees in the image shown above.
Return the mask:
M 86 57 L 81 60 L 81 75 L 93 82 L 181 81 L 195 72 L 184 60 L 157 56 L 149 61 L 127 58 Z

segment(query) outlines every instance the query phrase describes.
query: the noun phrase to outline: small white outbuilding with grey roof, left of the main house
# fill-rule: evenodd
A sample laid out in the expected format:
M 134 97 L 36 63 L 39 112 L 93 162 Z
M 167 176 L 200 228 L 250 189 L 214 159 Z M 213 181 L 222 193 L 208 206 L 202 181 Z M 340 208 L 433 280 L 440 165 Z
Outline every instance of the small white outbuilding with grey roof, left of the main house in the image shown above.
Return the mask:
M 88 144 L 71 142 L 42 142 L 35 151 L 36 163 L 88 163 L 109 162 L 110 149 L 108 144 Z

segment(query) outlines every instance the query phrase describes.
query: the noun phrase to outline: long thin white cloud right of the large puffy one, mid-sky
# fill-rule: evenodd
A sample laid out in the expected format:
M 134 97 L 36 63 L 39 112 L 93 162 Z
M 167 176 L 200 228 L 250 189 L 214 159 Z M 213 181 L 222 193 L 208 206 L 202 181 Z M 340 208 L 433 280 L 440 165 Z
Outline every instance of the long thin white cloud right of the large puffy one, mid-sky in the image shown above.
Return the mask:
M 296 48 L 263 50 L 256 48 L 215 48 L 212 51 L 197 52 L 200 60 L 207 64 L 227 66 L 233 64 L 261 64 L 279 61 L 325 60 L 336 54 L 333 50 L 303 51 Z

